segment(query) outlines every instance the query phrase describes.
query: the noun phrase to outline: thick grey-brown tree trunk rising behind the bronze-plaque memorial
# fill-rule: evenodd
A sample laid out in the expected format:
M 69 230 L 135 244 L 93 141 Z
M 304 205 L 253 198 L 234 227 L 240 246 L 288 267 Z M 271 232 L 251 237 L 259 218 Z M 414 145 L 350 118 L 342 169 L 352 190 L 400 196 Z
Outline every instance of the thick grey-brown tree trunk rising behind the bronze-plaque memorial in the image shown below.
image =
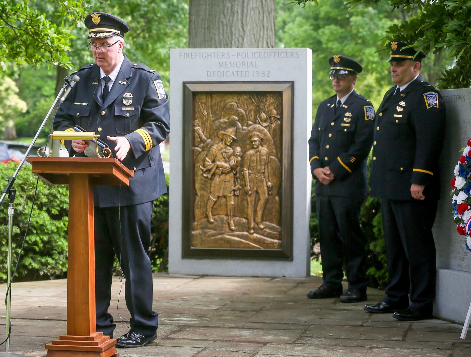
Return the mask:
M 190 0 L 189 48 L 273 48 L 275 35 L 275 0 Z

